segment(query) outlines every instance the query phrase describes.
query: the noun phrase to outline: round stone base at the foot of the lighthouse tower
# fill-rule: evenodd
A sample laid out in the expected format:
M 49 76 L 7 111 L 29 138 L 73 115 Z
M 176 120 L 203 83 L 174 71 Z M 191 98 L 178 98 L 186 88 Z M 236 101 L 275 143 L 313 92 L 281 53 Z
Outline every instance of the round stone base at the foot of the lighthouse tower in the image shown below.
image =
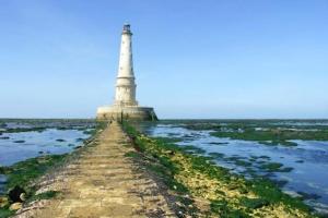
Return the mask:
M 141 120 L 156 121 L 153 108 L 138 106 L 103 106 L 97 108 L 97 120 Z

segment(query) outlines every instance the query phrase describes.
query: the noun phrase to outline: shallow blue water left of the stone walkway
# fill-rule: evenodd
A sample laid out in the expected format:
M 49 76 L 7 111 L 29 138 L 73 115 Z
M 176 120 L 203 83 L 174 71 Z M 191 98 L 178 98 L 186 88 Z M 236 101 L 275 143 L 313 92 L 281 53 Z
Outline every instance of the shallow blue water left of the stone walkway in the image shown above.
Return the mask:
M 35 128 L 44 130 L 33 131 Z M 84 131 L 93 128 L 92 121 L 2 121 L 0 166 L 11 166 L 42 155 L 70 153 L 74 147 L 82 145 L 83 140 L 90 137 Z M 24 131 L 8 133 L 5 129 L 24 129 Z M 0 174 L 0 193 L 3 193 L 5 175 Z

